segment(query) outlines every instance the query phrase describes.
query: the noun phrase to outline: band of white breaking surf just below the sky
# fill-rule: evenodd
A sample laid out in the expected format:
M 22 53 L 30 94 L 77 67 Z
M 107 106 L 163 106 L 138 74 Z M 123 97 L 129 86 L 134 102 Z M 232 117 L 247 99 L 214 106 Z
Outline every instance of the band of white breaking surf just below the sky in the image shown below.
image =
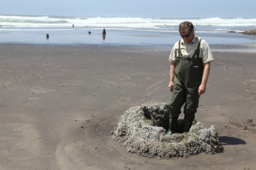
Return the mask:
M 184 20 L 189 20 L 197 29 L 204 30 L 226 29 L 225 27 L 256 27 L 256 18 L 106 18 L 0 15 L 2 28 L 65 28 L 75 25 L 76 27 L 177 30 L 177 26 Z

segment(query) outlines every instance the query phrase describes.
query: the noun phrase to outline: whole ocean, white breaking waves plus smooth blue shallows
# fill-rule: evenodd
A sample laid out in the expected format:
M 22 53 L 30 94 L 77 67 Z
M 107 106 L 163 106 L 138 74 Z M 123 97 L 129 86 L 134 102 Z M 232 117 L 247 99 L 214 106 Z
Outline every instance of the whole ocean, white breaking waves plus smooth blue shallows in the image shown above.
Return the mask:
M 256 18 L 103 18 L 0 15 L 0 43 L 39 45 L 153 45 L 169 48 L 180 39 L 180 22 L 194 23 L 210 45 L 255 44 Z M 74 25 L 74 27 L 72 26 Z M 106 28 L 106 37 L 103 37 Z M 233 31 L 231 33 L 230 31 Z M 88 32 L 91 32 L 89 34 Z M 49 38 L 46 38 L 49 34 Z

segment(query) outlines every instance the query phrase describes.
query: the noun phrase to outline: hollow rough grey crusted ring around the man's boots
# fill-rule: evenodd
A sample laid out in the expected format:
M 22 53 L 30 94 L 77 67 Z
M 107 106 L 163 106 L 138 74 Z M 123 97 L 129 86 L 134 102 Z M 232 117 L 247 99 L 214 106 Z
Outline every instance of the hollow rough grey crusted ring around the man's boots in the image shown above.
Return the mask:
M 178 132 L 166 135 L 170 105 L 160 103 L 147 107 L 136 106 L 124 112 L 115 127 L 113 139 L 121 142 L 127 152 L 149 158 L 188 157 L 201 152 L 224 152 L 216 129 L 205 128 L 194 121 L 190 132 L 181 133 L 183 120 L 179 119 Z

